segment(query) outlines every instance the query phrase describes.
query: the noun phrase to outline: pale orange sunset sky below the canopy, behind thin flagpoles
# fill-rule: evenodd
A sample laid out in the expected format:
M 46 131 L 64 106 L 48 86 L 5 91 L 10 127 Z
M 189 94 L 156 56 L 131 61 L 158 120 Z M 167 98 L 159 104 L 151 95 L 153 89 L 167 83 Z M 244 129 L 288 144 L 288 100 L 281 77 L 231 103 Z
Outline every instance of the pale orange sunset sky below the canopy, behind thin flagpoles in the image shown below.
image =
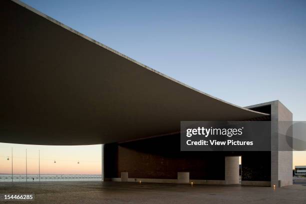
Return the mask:
M 101 144 L 55 146 L 11 143 L 0 143 L 0 174 L 11 173 L 11 147 L 13 174 L 26 172 L 25 149 L 27 149 L 27 174 L 38 174 L 38 150 L 40 174 L 101 174 Z

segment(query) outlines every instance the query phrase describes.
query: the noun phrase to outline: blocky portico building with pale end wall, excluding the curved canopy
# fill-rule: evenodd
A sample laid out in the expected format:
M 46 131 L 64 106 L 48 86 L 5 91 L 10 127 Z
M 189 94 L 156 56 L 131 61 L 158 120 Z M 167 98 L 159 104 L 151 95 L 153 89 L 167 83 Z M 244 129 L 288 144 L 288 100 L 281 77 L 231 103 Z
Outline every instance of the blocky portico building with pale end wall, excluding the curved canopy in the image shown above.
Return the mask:
M 292 120 L 291 112 L 279 101 L 247 108 L 269 114 L 257 120 Z M 271 134 L 281 131 L 281 127 L 272 128 L 279 129 L 272 129 Z M 180 151 L 179 136 L 177 133 L 104 144 L 104 179 L 121 181 L 124 172 L 126 181 L 176 183 L 186 182 L 179 179 L 179 174 L 185 172 L 188 182 L 237 184 L 241 156 L 241 185 L 292 184 L 292 151 Z M 274 145 L 279 140 L 271 142 Z

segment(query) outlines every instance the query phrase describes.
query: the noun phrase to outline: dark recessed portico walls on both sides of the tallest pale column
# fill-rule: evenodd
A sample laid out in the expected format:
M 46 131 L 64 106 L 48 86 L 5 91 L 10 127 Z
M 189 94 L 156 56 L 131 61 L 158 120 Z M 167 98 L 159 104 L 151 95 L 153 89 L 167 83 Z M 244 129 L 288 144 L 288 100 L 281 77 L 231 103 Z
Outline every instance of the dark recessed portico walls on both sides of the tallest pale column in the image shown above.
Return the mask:
M 129 180 L 176 182 L 177 172 L 189 172 L 195 183 L 225 184 L 225 156 L 241 155 L 242 180 L 270 181 L 269 151 L 180 151 L 179 135 L 105 144 L 104 149 L 106 178 L 120 178 L 126 171 Z

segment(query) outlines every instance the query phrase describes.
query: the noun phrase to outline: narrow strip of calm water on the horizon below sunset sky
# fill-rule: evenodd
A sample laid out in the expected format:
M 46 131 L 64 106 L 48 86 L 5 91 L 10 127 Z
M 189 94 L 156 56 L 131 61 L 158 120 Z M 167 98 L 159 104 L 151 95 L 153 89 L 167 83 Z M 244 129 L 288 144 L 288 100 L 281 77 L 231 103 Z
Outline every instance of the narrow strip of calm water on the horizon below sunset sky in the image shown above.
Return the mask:
M 27 174 L 27 182 L 39 181 L 38 174 Z M 40 174 L 40 181 L 94 181 L 94 180 L 101 180 L 101 175 L 72 175 L 72 174 Z M 11 181 L 11 174 L 0 174 L 0 182 L 9 182 Z M 25 174 L 13 174 L 13 181 L 20 182 L 26 181 Z

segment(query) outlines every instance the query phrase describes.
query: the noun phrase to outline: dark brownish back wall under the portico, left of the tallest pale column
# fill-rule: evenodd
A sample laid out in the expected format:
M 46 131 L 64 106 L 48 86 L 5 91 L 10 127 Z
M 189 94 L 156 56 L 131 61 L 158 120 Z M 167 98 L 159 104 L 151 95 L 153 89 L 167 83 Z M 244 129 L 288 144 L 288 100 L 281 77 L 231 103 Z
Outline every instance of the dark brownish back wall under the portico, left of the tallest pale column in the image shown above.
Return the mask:
M 105 177 L 177 179 L 189 172 L 190 179 L 224 180 L 223 152 L 180 151 L 179 134 L 105 144 Z

